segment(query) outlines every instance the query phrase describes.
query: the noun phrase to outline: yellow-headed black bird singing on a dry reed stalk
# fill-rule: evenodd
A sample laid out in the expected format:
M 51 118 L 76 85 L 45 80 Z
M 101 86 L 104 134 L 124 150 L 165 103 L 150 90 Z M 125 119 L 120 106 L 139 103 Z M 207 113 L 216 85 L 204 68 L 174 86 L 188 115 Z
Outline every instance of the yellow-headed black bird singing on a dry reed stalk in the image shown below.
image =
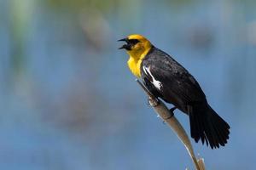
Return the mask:
M 119 49 L 129 55 L 131 73 L 142 79 L 155 98 L 172 104 L 170 111 L 178 109 L 189 116 L 190 136 L 196 143 L 201 139 L 212 149 L 227 144 L 230 125 L 208 104 L 201 86 L 183 65 L 142 35 L 131 34 L 118 41 L 125 42 Z

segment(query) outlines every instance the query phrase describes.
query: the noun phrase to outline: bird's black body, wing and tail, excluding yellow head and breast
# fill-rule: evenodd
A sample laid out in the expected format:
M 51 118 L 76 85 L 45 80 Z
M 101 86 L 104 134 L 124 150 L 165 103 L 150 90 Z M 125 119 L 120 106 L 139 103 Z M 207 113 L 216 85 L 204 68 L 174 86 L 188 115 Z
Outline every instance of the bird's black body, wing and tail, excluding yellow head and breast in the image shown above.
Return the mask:
M 207 104 L 199 83 L 182 65 L 153 47 L 143 59 L 140 69 L 144 85 L 155 97 L 189 115 L 190 133 L 195 142 L 201 139 L 204 144 L 206 141 L 212 149 L 227 143 L 229 124 Z M 155 87 L 154 81 L 160 82 L 160 88 Z

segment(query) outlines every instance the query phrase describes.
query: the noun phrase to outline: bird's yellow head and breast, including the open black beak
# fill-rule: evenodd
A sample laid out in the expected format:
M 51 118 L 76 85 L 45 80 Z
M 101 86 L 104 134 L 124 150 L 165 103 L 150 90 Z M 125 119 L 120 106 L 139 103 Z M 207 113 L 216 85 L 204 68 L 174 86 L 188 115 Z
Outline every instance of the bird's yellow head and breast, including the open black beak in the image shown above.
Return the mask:
M 128 37 L 120 39 L 119 41 L 126 42 L 121 48 L 124 48 L 126 52 L 130 55 L 128 60 L 128 66 L 131 72 L 136 77 L 141 77 L 140 67 L 143 62 L 144 57 L 148 54 L 149 50 L 153 47 L 151 42 L 147 38 L 132 34 Z

